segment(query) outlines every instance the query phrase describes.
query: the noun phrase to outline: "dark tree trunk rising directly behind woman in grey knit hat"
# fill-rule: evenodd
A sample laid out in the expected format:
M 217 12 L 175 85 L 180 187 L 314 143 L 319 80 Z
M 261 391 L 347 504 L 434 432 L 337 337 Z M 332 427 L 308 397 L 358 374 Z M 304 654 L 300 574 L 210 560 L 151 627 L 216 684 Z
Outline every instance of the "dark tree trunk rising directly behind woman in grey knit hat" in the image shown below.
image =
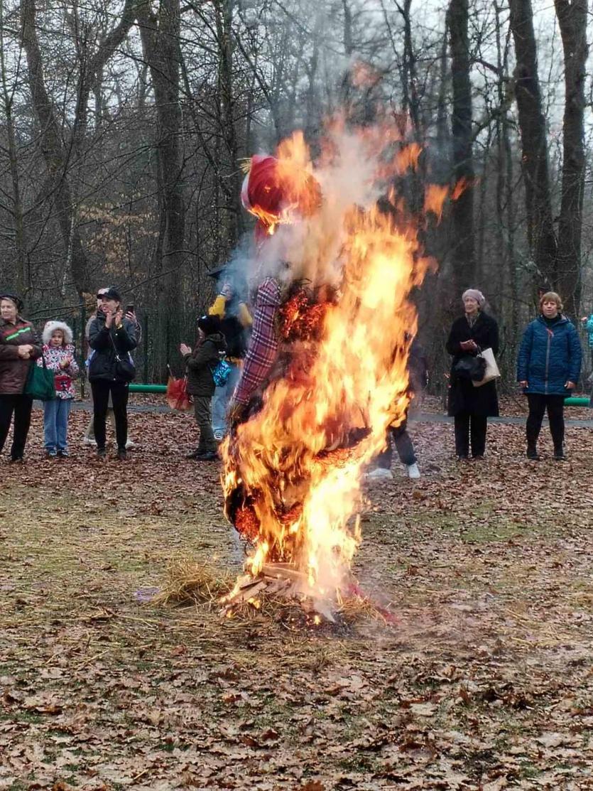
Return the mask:
M 453 203 L 452 242 L 453 273 L 458 293 L 474 285 L 474 159 L 472 148 L 472 102 L 470 81 L 470 52 L 468 42 L 468 0 L 451 0 L 447 12 L 451 42 L 451 77 L 453 108 L 453 165 L 455 179 L 469 183 Z

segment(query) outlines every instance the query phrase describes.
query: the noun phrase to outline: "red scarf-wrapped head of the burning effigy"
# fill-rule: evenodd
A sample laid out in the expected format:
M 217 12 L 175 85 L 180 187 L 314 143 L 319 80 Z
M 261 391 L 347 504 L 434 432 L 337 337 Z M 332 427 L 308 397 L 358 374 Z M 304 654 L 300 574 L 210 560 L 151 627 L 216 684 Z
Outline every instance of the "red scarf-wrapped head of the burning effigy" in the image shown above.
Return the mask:
M 241 202 L 258 218 L 255 238 L 261 241 L 285 221 L 285 214 L 314 214 L 321 203 L 321 188 L 310 173 L 276 157 L 255 154 L 243 182 Z

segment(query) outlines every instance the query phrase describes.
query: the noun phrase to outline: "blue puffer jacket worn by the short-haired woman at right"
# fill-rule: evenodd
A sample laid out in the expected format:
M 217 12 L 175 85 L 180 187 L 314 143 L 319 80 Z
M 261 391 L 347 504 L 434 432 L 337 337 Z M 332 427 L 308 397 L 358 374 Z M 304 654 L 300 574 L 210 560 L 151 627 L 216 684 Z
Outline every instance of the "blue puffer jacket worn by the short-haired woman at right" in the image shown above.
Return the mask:
M 527 381 L 526 393 L 568 395 L 565 383 L 579 380 L 582 356 L 579 335 L 566 316 L 553 324 L 538 316 L 523 333 L 517 381 Z

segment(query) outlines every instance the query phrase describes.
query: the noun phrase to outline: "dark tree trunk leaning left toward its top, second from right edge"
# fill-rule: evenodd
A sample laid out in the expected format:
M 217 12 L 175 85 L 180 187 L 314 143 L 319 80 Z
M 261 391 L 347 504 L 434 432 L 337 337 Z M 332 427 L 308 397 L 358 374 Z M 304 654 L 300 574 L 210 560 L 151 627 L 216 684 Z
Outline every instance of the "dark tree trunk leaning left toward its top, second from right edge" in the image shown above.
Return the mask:
M 546 119 L 539 89 L 531 0 L 509 0 L 515 44 L 515 93 L 525 181 L 527 239 L 542 286 L 557 286 L 557 240 L 553 228 Z

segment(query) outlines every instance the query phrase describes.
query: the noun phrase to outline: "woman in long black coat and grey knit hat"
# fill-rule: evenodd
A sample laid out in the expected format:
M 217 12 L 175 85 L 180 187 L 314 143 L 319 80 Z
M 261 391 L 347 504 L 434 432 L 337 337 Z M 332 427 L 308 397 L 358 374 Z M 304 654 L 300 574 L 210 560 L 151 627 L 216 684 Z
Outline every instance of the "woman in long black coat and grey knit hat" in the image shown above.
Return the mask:
M 463 357 L 475 357 L 482 349 L 498 353 L 498 324 L 483 312 L 485 297 L 477 289 L 463 292 L 465 315 L 453 322 L 447 341 L 452 355 L 448 414 L 455 418 L 455 453 L 466 460 L 470 452 L 474 459 L 483 459 L 488 418 L 498 415 L 497 385 L 494 381 L 474 387 L 470 379 L 455 373 L 455 364 Z

